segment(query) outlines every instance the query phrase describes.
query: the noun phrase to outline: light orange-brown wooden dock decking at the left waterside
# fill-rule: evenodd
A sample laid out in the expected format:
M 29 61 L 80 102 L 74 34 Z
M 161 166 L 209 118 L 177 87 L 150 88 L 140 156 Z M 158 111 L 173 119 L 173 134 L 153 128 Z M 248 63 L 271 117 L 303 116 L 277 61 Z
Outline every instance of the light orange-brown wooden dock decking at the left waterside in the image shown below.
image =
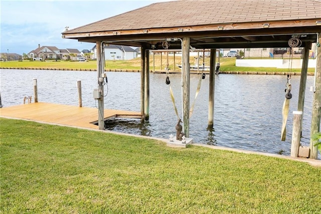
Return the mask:
M 98 129 L 98 109 L 64 104 L 34 102 L 9 106 L 0 109 L 0 116 L 27 119 L 82 128 Z M 142 118 L 140 112 L 122 110 L 104 110 L 104 119 L 109 118 Z

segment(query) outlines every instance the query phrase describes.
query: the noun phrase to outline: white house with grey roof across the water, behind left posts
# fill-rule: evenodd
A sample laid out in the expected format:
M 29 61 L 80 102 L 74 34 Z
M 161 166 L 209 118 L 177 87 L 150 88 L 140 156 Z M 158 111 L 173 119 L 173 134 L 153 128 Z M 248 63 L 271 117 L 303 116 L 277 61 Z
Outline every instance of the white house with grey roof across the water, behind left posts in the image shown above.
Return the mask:
M 96 45 L 92 48 L 96 58 Z M 107 45 L 104 47 L 106 60 L 130 60 L 137 57 L 137 51 L 124 45 Z

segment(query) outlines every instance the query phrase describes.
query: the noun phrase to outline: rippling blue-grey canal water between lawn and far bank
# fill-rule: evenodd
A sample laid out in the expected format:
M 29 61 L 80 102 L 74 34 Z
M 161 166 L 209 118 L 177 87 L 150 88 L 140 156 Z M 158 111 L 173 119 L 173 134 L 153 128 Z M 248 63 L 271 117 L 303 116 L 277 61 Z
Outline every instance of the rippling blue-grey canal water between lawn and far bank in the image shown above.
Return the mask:
M 1 73 L 1 95 L 4 107 L 23 103 L 33 95 L 33 78 L 38 79 L 41 102 L 78 105 L 77 80 L 82 81 L 83 106 L 96 107 L 92 91 L 96 72 L 53 70 L 7 70 Z M 140 73 L 107 72 L 106 109 L 140 111 Z M 182 115 L 181 75 L 171 74 L 176 105 Z M 191 74 L 191 106 L 200 75 Z M 309 145 L 313 94 L 313 76 L 307 76 L 301 144 Z M 138 135 L 168 138 L 175 135 L 177 116 L 170 98 L 165 74 L 150 74 L 149 122 L 138 119 L 113 119 L 107 129 Z M 285 75 L 220 74 L 215 79 L 214 130 L 207 130 L 209 77 L 202 81 L 190 119 L 190 137 L 194 142 L 274 154 L 290 154 L 292 112 L 297 108 L 300 76 L 292 76 L 292 94 L 287 121 L 286 141 L 280 141 Z

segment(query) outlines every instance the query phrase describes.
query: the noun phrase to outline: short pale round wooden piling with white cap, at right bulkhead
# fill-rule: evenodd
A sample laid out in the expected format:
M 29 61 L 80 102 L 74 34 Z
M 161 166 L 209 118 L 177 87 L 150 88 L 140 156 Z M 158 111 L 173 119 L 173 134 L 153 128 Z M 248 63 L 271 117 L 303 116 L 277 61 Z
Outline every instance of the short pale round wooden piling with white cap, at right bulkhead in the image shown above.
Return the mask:
M 299 154 L 301 126 L 302 126 L 302 114 L 303 114 L 303 112 L 301 112 L 301 111 L 294 111 L 293 112 L 291 157 L 298 157 L 298 154 Z

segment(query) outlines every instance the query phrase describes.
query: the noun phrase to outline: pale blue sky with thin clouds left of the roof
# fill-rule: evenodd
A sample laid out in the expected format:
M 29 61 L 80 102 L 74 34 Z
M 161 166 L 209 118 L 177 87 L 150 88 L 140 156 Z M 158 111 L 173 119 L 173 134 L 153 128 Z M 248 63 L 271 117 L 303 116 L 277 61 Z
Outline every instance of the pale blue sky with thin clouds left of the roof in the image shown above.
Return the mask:
M 164 0 L 0 0 L 0 52 L 28 54 L 41 46 L 91 49 L 94 43 L 62 39 L 61 33 Z

